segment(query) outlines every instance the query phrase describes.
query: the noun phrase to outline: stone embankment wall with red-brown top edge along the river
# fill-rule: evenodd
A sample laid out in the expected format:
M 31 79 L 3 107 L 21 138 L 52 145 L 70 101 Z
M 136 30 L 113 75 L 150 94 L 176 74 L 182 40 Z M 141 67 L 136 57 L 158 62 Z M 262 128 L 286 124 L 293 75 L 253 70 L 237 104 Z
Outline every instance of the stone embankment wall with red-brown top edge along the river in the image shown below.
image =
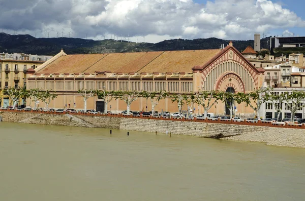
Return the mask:
M 73 127 L 109 128 L 157 132 L 222 140 L 264 142 L 267 145 L 305 148 L 305 125 L 278 125 L 266 122 L 234 122 L 196 118 L 163 118 L 122 114 L 56 113 L 43 111 L 2 110 L 5 122 Z

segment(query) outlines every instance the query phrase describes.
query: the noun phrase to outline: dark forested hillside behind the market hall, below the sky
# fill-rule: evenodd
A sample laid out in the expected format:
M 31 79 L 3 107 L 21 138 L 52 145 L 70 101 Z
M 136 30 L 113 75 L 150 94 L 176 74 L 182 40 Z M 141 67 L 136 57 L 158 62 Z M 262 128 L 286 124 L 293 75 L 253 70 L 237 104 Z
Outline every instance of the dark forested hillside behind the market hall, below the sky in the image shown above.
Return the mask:
M 261 40 L 262 48 L 267 45 L 267 39 Z M 199 39 L 171 39 L 160 43 L 128 43 L 127 41 L 114 41 L 105 39 L 94 41 L 82 38 L 35 38 L 31 35 L 10 35 L 0 33 L 0 52 L 25 53 L 38 55 L 55 55 L 60 49 L 67 54 L 88 54 L 88 53 L 111 53 L 111 52 L 146 52 L 146 51 L 173 51 L 173 50 L 201 50 L 218 49 L 222 44 L 227 46 L 229 40 L 219 38 Z M 247 46 L 254 44 L 249 41 L 232 41 L 238 51 L 243 51 Z M 264 46 L 265 44 L 265 46 Z

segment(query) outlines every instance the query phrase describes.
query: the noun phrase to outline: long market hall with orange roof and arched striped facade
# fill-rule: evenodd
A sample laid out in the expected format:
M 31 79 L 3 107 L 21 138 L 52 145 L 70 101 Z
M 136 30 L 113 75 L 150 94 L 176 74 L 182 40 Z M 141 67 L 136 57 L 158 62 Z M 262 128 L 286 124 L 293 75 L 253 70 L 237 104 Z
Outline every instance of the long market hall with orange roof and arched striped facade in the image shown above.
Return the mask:
M 191 50 L 111 54 L 66 55 L 60 51 L 52 59 L 27 74 L 27 89 L 53 90 L 57 98 L 53 108 L 83 108 L 80 89 L 168 91 L 190 93 L 201 90 L 250 92 L 264 82 L 264 70 L 255 68 L 233 46 L 223 50 Z M 104 111 L 104 100 L 89 98 L 88 109 Z M 41 102 L 41 101 L 40 101 Z M 45 107 L 40 104 L 38 107 Z M 126 110 L 123 101 L 112 100 L 108 110 Z M 150 102 L 140 97 L 131 110 L 151 110 Z M 203 108 L 193 105 L 194 113 Z M 199 110 L 198 110 L 199 108 Z M 161 100 L 157 111 L 176 112 L 177 103 L 170 98 Z M 209 112 L 227 113 L 226 104 L 219 102 Z M 253 113 L 245 104 L 236 104 L 237 113 Z

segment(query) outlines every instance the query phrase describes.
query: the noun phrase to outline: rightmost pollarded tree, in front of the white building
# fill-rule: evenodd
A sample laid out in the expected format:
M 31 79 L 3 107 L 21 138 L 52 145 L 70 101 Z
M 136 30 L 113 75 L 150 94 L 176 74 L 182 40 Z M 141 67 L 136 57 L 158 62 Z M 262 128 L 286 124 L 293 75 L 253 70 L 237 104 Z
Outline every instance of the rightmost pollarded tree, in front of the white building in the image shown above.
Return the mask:
M 285 96 L 285 101 L 288 105 L 288 109 L 291 112 L 290 121 L 294 122 L 294 114 L 296 110 L 305 107 L 305 105 L 301 103 L 301 101 L 305 99 L 305 92 L 292 90 L 291 93 L 290 92 L 284 93 L 284 96 Z

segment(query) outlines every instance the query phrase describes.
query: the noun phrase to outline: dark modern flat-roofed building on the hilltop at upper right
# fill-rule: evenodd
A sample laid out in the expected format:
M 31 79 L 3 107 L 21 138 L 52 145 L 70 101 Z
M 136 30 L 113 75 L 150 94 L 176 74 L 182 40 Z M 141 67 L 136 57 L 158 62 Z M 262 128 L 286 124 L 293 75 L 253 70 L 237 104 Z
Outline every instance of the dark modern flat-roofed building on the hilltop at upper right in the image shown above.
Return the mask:
M 270 50 L 272 48 L 305 47 L 305 37 L 270 37 Z

